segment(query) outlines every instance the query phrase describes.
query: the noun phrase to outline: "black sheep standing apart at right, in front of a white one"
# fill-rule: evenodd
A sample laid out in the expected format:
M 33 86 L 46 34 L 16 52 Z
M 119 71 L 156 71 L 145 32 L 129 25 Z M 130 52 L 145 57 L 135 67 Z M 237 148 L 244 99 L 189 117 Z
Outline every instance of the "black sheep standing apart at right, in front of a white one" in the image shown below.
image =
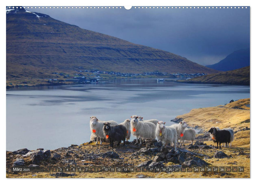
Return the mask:
M 208 132 L 212 134 L 213 142 L 217 142 L 217 149 L 218 145 L 221 143 L 225 143 L 226 146 L 229 144 L 230 132 L 228 130 L 217 130 L 215 127 L 212 127 Z

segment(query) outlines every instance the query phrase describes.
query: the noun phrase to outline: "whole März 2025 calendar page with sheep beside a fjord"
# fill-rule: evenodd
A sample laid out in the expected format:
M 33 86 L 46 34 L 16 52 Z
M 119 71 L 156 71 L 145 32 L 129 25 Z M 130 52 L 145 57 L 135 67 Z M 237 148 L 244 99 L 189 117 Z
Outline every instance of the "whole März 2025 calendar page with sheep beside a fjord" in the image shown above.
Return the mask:
M 6 6 L 6 178 L 250 178 L 250 6 Z

